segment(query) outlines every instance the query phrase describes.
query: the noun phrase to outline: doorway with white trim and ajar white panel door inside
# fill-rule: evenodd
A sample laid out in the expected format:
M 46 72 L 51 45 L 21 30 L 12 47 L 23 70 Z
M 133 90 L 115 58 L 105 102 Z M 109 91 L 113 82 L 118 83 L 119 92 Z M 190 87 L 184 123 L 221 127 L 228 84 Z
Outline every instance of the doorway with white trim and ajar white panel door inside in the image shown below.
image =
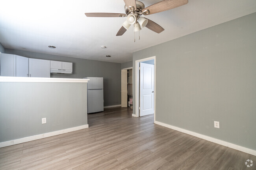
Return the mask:
M 156 57 L 135 61 L 135 117 L 154 114 L 155 121 L 155 84 Z

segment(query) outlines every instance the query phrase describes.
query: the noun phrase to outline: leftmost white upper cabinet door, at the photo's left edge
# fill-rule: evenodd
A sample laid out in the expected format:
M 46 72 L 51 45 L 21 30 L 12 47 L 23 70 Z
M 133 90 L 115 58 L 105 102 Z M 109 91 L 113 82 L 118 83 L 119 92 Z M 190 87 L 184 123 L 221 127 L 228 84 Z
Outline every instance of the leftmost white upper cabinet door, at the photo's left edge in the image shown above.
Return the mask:
M 15 55 L 12 54 L 0 54 L 1 65 L 0 65 L 0 75 L 1 76 L 16 76 L 16 62 Z

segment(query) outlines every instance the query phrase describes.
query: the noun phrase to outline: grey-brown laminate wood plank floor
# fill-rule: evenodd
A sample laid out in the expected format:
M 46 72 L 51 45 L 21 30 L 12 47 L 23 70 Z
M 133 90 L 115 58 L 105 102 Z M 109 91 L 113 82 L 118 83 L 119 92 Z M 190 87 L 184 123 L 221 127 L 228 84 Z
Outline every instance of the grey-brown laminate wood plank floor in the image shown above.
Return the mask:
M 256 157 L 132 117 L 88 115 L 89 128 L 0 148 L 1 170 L 256 170 Z M 254 165 L 248 168 L 245 161 Z

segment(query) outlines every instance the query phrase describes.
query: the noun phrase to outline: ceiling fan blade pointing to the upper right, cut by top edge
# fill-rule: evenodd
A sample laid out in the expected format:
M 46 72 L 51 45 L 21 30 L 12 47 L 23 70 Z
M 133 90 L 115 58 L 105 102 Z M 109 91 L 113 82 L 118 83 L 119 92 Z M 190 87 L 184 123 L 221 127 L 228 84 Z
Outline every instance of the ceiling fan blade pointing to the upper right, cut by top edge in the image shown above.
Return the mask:
M 144 9 L 142 12 L 144 15 L 160 13 L 163 11 L 167 11 L 169 9 L 173 9 L 188 3 L 188 0 L 163 0 L 156 4 L 150 5 Z

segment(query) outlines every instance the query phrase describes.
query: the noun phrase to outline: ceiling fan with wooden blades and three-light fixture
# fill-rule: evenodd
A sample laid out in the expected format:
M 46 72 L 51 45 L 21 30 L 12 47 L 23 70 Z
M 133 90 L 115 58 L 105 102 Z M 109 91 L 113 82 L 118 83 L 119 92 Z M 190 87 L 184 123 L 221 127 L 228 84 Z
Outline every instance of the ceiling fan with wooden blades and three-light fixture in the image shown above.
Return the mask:
M 117 32 L 116 36 L 121 36 L 131 25 L 134 25 L 134 32 L 141 30 L 141 27 L 147 27 L 148 29 L 161 33 L 164 29 L 155 22 L 141 17 L 141 15 L 150 15 L 154 13 L 160 13 L 162 11 L 167 11 L 185 5 L 188 0 L 163 0 L 156 4 L 150 5 L 145 8 L 145 5 L 137 0 L 124 0 L 125 6 L 124 10 L 126 14 L 120 13 L 85 13 L 88 17 L 125 17 L 126 21 L 122 24 L 122 27 Z

